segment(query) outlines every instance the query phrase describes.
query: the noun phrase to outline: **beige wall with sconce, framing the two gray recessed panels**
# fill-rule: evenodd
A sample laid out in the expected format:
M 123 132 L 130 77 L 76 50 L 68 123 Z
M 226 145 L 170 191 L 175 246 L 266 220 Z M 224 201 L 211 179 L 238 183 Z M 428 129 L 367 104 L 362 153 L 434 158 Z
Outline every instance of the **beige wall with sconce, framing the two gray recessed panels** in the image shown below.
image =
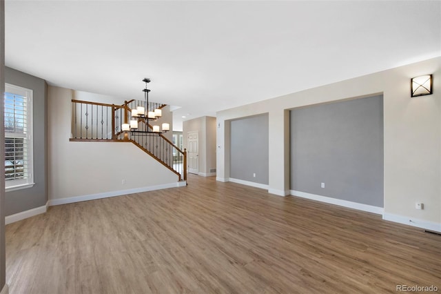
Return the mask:
M 433 95 L 411 98 L 410 79 L 427 74 L 434 77 Z M 218 179 L 229 177 L 230 119 L 269 112 L 269 192 L 287 195 L 287 110 L 379 93 L 384 95 L 384 218 L 441 231 L 441 57 L 218 112 Z M 415 202 L 424 203 L 424 210 L 416 210 Z

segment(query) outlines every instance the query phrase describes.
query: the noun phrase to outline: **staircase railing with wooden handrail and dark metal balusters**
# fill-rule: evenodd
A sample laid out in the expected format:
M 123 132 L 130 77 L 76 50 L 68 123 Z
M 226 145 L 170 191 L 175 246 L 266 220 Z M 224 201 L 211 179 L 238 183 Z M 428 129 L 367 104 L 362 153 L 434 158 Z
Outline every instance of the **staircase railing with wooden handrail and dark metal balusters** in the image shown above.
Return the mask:
M 178 181 L 187 180 L 187 152 L 176 147 L 162 134 L 130 133 L 121 131 L 121 124 L 131 119 L 132 109 L 139 101 L 125 101 L 122 105 L 102 104 L 72 99 L 72 136 L 70 141 L 127 142 L 172 170 Z M 149 109 L 163 108 L 163 104 L 150 103 Z M 152 129 L 139 121 L 138 130 Z

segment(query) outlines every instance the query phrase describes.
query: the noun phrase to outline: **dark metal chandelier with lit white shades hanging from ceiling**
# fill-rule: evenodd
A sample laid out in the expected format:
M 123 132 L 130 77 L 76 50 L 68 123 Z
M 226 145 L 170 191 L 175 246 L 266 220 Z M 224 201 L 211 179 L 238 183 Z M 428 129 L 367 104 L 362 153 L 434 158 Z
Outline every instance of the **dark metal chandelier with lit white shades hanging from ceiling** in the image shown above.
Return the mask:
M 130 124 L 122 124 L 121 130 L 131 133 L 141 133 L 144 135 L 159 135 L 161 133 L 165 133 L 170 130 L 170 124 L 164 123 L 162 124 L 162 132 L 159 130 L 159 126 L 152 126 L 152 130 L 150 130 L 149 121 L 156 121 L 159 117 L 162 117 L 162 110 L 156 108 L 154 110 L 149 110 L 149 92 L 147 89 L 147 84 L 150 83 L 150 79 L 143 79 L 145 82 L 144 92 L 144 106 L 137 106 L 136 109 L 132 109 L 132 119 L 130 120 Z M 145 121 L 145 130 L 139 130 L 139 121 Z

